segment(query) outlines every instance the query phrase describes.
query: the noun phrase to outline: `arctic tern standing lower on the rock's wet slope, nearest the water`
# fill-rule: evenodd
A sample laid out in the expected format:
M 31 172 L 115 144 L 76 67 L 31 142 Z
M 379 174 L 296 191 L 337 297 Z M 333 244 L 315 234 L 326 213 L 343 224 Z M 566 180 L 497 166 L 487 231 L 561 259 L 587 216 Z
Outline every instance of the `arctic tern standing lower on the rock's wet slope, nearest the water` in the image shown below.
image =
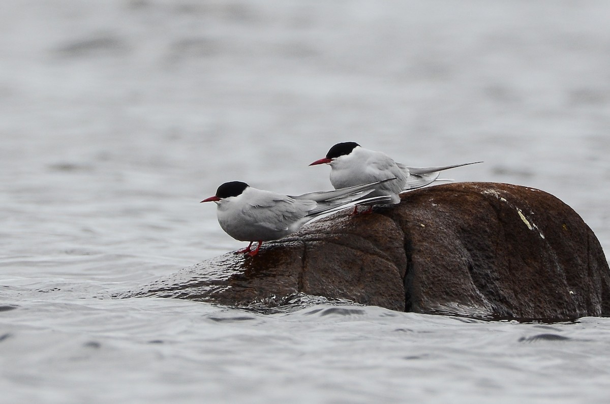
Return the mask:
M 304 193 L 296 197 L 256 189 L 245 182 L 231 181 L 218 187 L 216 195 L 201 202 L 215 202 L 220 227 L 234 239 L 250 242 L 248 247 L 235 253 L 255 256 L 262 242 L 288 236 L 321 215 L 356 206 L 357 203 L 388 203 L 390 197 L 381 195 L 379 191 L 376 191 L 373 198 L 361 198 L 393 179 L 395 178 L 332 191 Z M 359 201 L 354 202 L 355 200 Z M 258 242 L 258 245 L 253 250 L 251 247 L 254 242 Z

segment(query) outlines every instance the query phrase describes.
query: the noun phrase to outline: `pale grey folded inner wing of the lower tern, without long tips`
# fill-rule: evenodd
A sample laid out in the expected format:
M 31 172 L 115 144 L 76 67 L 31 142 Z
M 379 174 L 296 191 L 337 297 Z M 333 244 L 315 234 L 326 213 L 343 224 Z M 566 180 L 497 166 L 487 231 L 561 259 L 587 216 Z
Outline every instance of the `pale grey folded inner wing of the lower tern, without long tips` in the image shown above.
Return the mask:
M 242 210 L 242 214 L 257 226 L 285 231 L 300 222 L 316 206 L 315 201 L 295 200 L 278 193 L 271 198 L 252 201 Z

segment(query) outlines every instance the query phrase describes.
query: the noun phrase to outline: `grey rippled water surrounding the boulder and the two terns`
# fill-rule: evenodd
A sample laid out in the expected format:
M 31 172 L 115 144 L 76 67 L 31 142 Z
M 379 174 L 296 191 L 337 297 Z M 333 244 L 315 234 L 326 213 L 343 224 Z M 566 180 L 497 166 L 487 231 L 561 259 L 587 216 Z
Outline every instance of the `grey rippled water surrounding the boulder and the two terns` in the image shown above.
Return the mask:
M 0 5 L 0 403 L 606 403 L 610 319 L 112 299 L 245 247 L 225 181 L 355 141 L 552 193 L 610 251 L 610 2 Z

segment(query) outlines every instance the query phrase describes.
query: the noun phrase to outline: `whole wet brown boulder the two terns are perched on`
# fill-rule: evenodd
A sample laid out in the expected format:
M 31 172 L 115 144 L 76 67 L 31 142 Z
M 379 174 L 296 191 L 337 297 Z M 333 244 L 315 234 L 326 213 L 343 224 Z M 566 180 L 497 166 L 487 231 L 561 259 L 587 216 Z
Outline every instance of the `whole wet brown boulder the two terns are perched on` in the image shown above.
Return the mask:
M 418 189 L 370 215 L 304 226 L 255 257 L 232 253 L 129 295 L 282 305 L 295 295 L 486 318 L 610 315 L 600 243 L 552 195 L 509 184 Z

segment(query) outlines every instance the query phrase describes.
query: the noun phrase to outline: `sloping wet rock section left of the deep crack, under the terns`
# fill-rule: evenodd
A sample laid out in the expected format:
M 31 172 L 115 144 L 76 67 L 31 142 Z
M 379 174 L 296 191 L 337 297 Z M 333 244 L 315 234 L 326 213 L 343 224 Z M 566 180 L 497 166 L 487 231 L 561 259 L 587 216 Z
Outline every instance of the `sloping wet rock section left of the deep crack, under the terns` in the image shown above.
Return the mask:
M 404 311 L 403 245 L 402 231 L 387 217 L 337 214 L 263 244 L 257 256 L 224 254 L 137 295 L 249 306 L 278 305 L 301 293 Z

